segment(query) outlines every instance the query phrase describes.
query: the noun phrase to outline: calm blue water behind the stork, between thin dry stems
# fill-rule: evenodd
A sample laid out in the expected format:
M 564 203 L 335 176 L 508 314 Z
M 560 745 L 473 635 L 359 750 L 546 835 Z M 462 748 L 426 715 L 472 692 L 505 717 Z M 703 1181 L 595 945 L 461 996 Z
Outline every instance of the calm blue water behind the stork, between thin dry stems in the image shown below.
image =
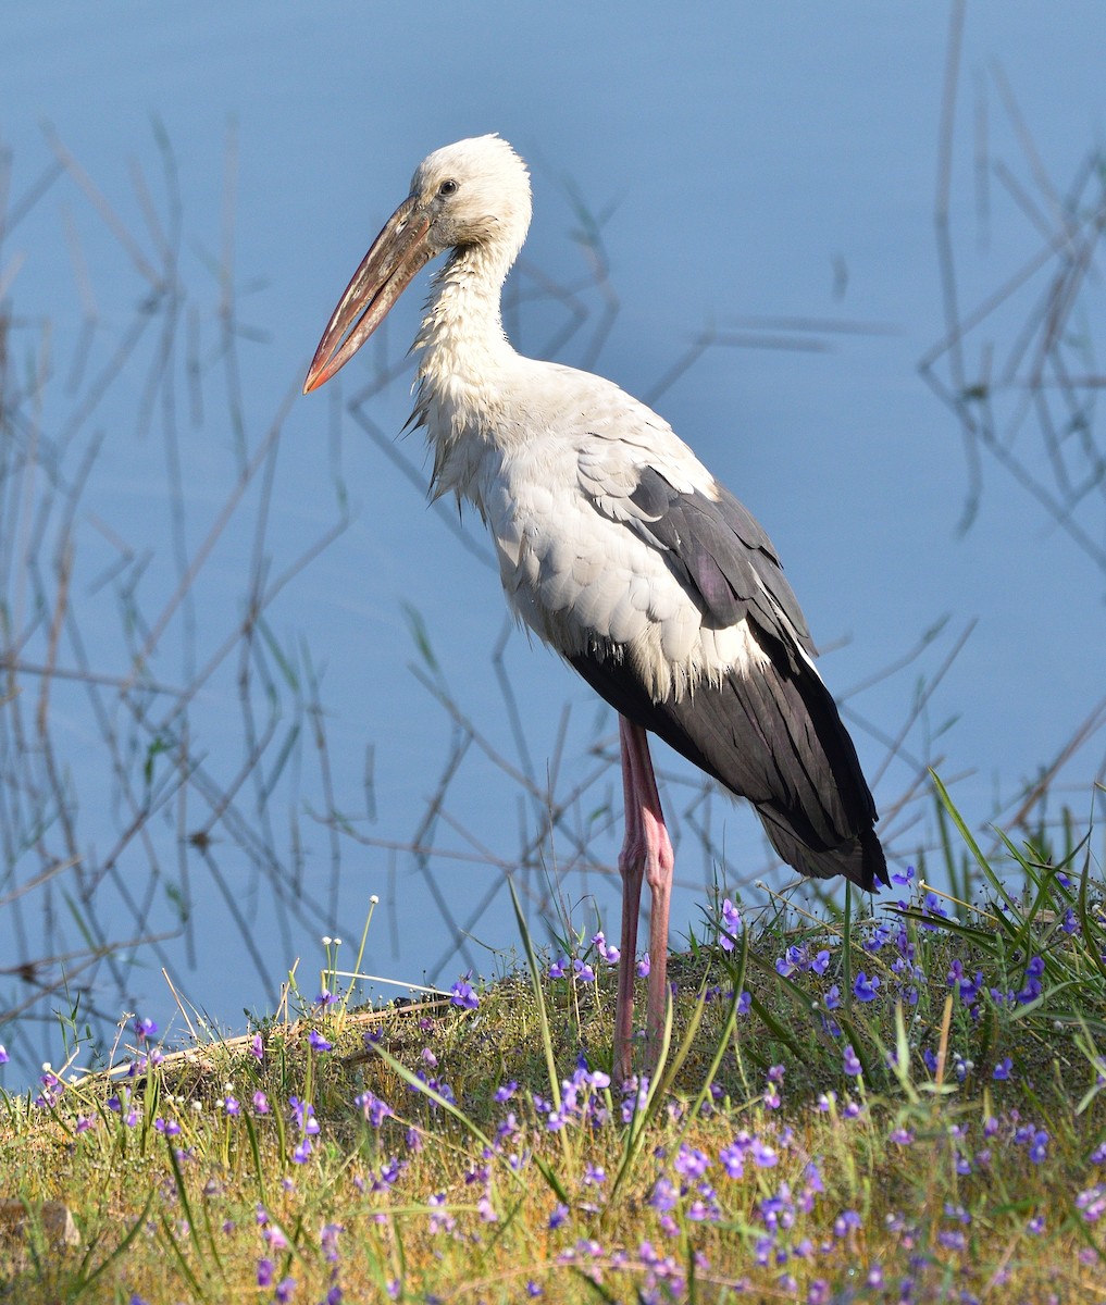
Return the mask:
M 293 398 L 338 294 L 406 194 L 419 159 L 451 140 L 498 130 L 533 172 L 535 223 L 516 277 L 531 298 L 535 281 L 527 269 L 562 283 L 587 279 L 587 260 L 573 239 L 580 221 L 573 197 L 605 215 L 603 245 L 618 313 L 595 365 L 626 389 L 651 394 L 707 326 L 816 346 L 710 348 L 657 407 L 770 530 L 815 638 L 831 650 L 823 672 L 835 690 L 866 683 L 948 619 L 918 660 L 850 699 L 850 707 L 865 765 L 880 774 L 884 808 L 895 805 L 918 765 L 939 761 L 942 773 L 956 779 L 953 791 L 969 818 L 986 821 L 1053 758 L 1101 696 L 1103 577 L 993 463 L 985 465 L 972 530 L 957 532 L 968 484 L 960 428 L 917 371 L 944 324 L 933 211 L 948 20 L 944 5 L 738 4 L 677 16 L 672 7 L 650 3 L 476 9 L 433 0 L 417 12 L 356 3 L 261 10 L 198 0 L 187 10 L 69 3 L 7 14 L 0 133 L 12 151 L 10 194 L 18 200 L 50 167 L 53 155 L 42 129 L 48 121 L 125 227 L 141 234 L 147 258 L 155 258 L 158 239 L 145 226 L 130 166 L 137 162 L 147 177 L 168 226 L 162 130 L 184 205 L 180 282 L 187 307 L 172 399 L 162 386 L 150 405 L 147 389 L 159 317 L 63 455 L 72 476 L 87 440 L 103 440 L 72 536 L 72 602 L 87 664 L 116 677 L 129 669 L 117 602 L 110 583 L 98 583 L 119 561 L 120 538 L 136 552 L 151 552 L 138 585 L 147 620 L 166 607 L 179 579 L 166 412 L 179 438 L 189 556 L 240 470 L 241 444 L 227 415 L 219 351 L 222 290 L 213 270 L 224 249 L 230 134 L 236 150 L 233 284 L 243 328 L 236 384 L 244 446 L 257 449 L 280 414 L 261 545 L 269 574 L 279 574 L 335 526 L 342 496 L 348 499 L 347 529 L 290 579 L 267 613 L 273 646 L 296 663 L 300 684 L 305 645 L 321 675 L 334 806 L 359 834 L 408 842 L 445 765 L 453 726 L 411 673 L 417 651 L 403 604 L 423 613 L 463 711 L 496 748 L 519 761 L 490 662 L 503 628 L 494 574 L 458 543 L 442 517 L 426 510 L 419 489 L 334 397 L 353 398 L 368 384 L 372 355 L 343 372 L 334 394 Z M 1090 0 L 1062 9 L 969 8 L 952 172 L 964 305 L 989 295 L 1042 243 L 994 168 L 990 209 L 979 217 L 973 163 L 979 106 L 991 164 L 1008 166 L 1047 211 L 1003 108 L 995 69 L 1013 89 L 1039 158 L 1063 191 L 1101 140 L 1103 43 L 1106 25 Z M 83 298 L 72 232 L 87 268 Z M 5 282 L 14 315 L 9 355 L 22 377 L 42 359 L 50 324 L 56 377 L 42 415 L 43 431 L 53 437 L 76 402 L 67 384 L 78 358 L 82 304 L 90 295 L 98 320 L 81 377 L 89 385 L 108 365 L 150 286 L 72 174 L 52 181 L 0 247 Z M 1102 308 L 1101 287 L 1090 284 L 1088 294 L 1093 322 L 1094 309 Z M 567 361 L 586 358 L 601 309 L 595 291 L 582 291 L 580 300 L 591 317 L 562 347 Z M 419 301 L 420 291 L 410 292 L 390 321 L 396 358 L 413 334 Z M 996 350 L 1008 347 L 1020 312 L 1012 303 L 973 337 L 973 367 L 986 352 L 989 331 Z M 772 322 L 760 325 L 762 318 Z M 513 318 L 518 346 L 544 352 L 563 320 L 556 304 L 524 303 Z M 793 320 L 863 329 L 796 330 Z M 198 408 L 184 365 L 193 346 L 202 372 Z M 145 405 L 153 416 L 141 433 Z M 386 438 L 398 433 L 407 414 L 406 381 L 361 411 Z M 420 466 L 415 441 L 396 448 Z M 151 662 L 151 673 L 164 684 L 188 683 L 240 620 L 260 501 L 254 483 L 194 582 L 194 609 L 170 616 Z M 27 518 L 10 497 L 0 510 L 10 548 Z M 1086 519 L 1101 545 L 1101 525 L 1093 515 Z M 56 535 L 47 539 L 48 553 Z M 472 539 L 480 543 L 479 531 Z M 18 566 L 5 585 L 8 602 L 26 620 L 33 586 Z M 910 715 L 919 683 L 936 677 L 972 622 L 968 642 L 908 735 L 912 763 L 900 760 L 884 773 L 886 740 Z M 39 629 L 27 646 L 29 660 L 44 659 L 44 639 Z M 74 656 L 74 646 L 63 639 L 59 664 L 70 666 Z M 249 756 L 236 664 L 228 663 L 193 703 L 196 754 L 224 787 Z M 524 638 L 509 641 L 506 666 L 523 705 L 539 787 L 557 752 L 565 705 L 571 709 L 557 775 L 566 792 L 592 765 L 586 757 L 591 741 L 612 736 L 612 722 L 566 669 Z M 107 928 L 115 941 L 130 936 L 128 893 L 141 898 L 153 883 L 143 932 L 179 929 L 173 895 L 189 903 L 187 938 L 167 938 L 160 953 L 141 950 L 137 967 L 125 970 L 134 1009 L 163 1026 L 173 1018 L 158 975 L 164 963 L 213 1023 L 239 1028 L 243 1007 L 273 1007 L 297 957 L 301 979 L 318 970 L 318 934 L 340 932 L 350 940 L 360 933 L 370 893 L 383 898 L 370 936 L 373 972 L 446 985 L 470 963 L 493 972 L 494 949 L 509 951 L 515 940 L 502 893 L 480 915 L 466 959 L 449 954 L 455 925 L 445 923 L 410 856 L 339 840 L 340 878 L 331 890 L 334 843 L 314 818 L 330 799 L 310 744 L 310 716 L 297 718 L 290 706 L 295 696 L 286 692 L 275 654 L 267 667 L 280 702 L 267 767 L 276 770 L 280 739 L 301 727 L 297 760 L 274 775 L 273 843 L 280 848 L 288 902 L 295 902 L 297 885 L 322 886 L 321 910 L 275 908 L 271 885 L 236 857 L 232 839 L 215 826 L 211 855 L 227 877 L 224 895 L 200 850 L 177 838 L 179 829 L 205 825 L 202 799 L 192 793 L 184 810 L 173 799 L 151 825 L 153 842 L 129 843 L 103 890 L 120 903 Z M 29 676 L 21 688 L 33 720 L 29 703 L 39 684 Z M 167 703 L 153 713 L 157 719 L 167 719 Z M 263 693 L 257 706 L 261 729 Z M 104 773 L 100 724 L 81 688 L 57 686 L 52 710 L 55 748 L 77 809 L 77 851 L 102 861 L 125 830 L 128 812 Z M 127 713 L 117 702 L 110 710 L 125 733 Z M 374 823 L 365 818 L 369 745 Z M 140 735 L 134 746 L 143 756 L 150 737 Z M 1064 773 L 1084 816 L 1101 750 L 1101 740 L 1093 739 Z M 669 756 L 663 760 L 674 775 L 691 778 Z M 171 778 L 167 765 L 154 756 L 154 782 Z M 608 800 L 617 812 L 616 780 L 609 775 L 580 799 L 573 817 L 580 827 Z M 677 814 L 685 792 L 670 790 Z M 468 753 L 449 813 L 481 847 L 510 860 L 526 805 L 501 769 L 479 749 Z M 290 812 L 299 820 L 295 838 Z M 923 814 L 923 804 L 916 803 L 889 821 L 903 857 L 929 837 Z M 526 820 L 533 821 L 532 808 Z M 713 804 L 712 822 L 732 869 L 756 872 L 768 863 L 755 822 L 721 801 Z M 700 927 L 703 881 L 712 876 L 690 825 L 682 827 L 681 869 L 689 886 L 676 904 L 677 936 L 689 924 Z M 455 829 L 440 826 L 434 838 L 464 847 Z M 43 846 L 47 859 L 65 859 L 57 826 Z M 597 848 L 606 850 L 609 863 L 617 842 L 606 837 Z M 42 868 L 39 851 L 20 857 L 0 898 Z M 566 835 L 546 851 L 550 877 L 569 861 Z M 57 921 L 50 950 L 59 953 L 85 945 L 67 902 L 67 893 L 72 900 L 78 887 L 74 873 L 59 872 L 48 890 Z M 433 873 L 460 923 L 501 878 L 494 867 L 454 860 L 436 861 Z M 574 924 L 591 932 L 592 893 L 613 927 L 617 894 L 609 878 L 595 873 L 565 882 L 563 903 Z M 248 955 L 231 904 L 243 911 L 265 976 Z M 35 889 L 20 899 L 18 919 L 10 903 L 0 908 L 0 968 L 43 954 L 34 930 L 46 906 L 47 889 Z M 308 994 L 316 987 L 317 979 L 304 980 Z M 0 980 L 0 1011 L 30 997 L 26 983 Z M 82 1001 L 116 1013 L 119 989 L 104 967 L 94 971 Z M 0 1041 L 25 1062 L 60 1060 L 51 1007 L 68 1009 L 68 1001 L 57 993 L 30 1005 L 20 1019 L 0 1024 Z

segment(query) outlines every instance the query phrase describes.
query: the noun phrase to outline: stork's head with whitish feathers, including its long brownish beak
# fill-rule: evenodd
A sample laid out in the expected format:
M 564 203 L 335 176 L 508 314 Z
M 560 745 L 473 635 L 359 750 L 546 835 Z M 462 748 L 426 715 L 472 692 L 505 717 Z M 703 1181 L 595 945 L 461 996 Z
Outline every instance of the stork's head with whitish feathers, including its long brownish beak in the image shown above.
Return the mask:
M 446 145 L 415 170 L 411 193 L 376 238 L 338 301 L 304 382 L 317 389 L 357 352 L 432 258 L 480 248 L 514 262 L 530 227 L 530 174 L 498 136 Z

